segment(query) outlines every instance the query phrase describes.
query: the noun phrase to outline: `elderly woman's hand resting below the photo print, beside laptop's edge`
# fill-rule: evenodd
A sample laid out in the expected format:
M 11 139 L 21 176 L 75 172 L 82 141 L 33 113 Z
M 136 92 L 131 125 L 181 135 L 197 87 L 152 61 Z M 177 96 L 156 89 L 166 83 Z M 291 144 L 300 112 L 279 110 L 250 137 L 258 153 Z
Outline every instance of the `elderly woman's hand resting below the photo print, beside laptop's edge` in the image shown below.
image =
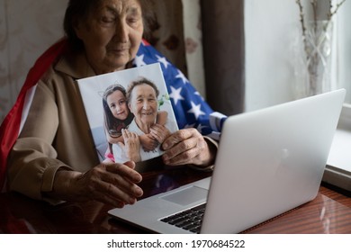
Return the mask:
M 109 203 L 117 208 L 133 204 L 143 194 L 137 185 L 141 175 L 134 170 L 134 162 L 124 164 L 103 163 L 84 174 L 59 170 L 51 194 L 56 198 L 72 201 Z

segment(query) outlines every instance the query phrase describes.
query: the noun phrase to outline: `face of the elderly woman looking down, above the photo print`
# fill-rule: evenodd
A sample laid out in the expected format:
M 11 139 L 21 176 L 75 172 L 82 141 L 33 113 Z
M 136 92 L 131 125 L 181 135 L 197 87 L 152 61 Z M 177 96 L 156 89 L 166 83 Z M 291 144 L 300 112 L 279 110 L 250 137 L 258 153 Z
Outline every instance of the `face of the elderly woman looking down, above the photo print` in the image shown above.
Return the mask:
M 75 27 L 95 74 L 124 69 L 135 58 L 144 26 L 138 0 L 102 0 Z

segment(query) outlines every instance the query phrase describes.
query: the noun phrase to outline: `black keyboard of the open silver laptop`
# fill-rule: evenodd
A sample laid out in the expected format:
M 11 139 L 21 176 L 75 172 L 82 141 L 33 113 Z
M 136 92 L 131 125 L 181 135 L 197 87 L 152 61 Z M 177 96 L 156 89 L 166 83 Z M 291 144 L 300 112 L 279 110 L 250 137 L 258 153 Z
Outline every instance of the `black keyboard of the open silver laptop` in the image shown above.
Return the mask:
M 193 233 L 199 233 L 205 206 L 206 203 L 203 203 L 191 209 L 175 213 L 174 215 L 161 219 L 161 221 L 181 229 L 189 230 Z

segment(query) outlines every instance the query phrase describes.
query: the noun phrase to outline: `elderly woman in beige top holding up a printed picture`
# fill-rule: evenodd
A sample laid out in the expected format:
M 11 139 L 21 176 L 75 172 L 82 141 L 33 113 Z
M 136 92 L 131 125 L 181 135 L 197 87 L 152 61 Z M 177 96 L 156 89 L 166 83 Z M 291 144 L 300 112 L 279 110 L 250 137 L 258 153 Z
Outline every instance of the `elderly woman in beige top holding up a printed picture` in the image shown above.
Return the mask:
M 142 176 L 134 162 L 99 163 L 76 79 L 133 67 L 142 46 L 147 3 L 68 2 L 67 47 L 36 85 L 23 130 L 7 158 L 10 190 L 39 200 L 96 200 L 115 207 L 142 195 Z M 167 85 L 171 81 L 166 79 Z M 193 128 L 171 134 L 162 148 L 163 161 L 173 166 L 211 166 L 216 152 L 211 139 Z

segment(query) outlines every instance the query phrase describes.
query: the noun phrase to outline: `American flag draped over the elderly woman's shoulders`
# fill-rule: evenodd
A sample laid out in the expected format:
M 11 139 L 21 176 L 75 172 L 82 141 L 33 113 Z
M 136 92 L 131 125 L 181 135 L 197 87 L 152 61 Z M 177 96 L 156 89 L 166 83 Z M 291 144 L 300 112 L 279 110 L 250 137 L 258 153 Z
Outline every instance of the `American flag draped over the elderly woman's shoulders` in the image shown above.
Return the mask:
M 0 189 L 5 191 L 6 159 L 14 142 L 18 138 L 21 125 L 25 121 L 25 111 L 31 103 L 26 103 L 28 95 L 32 93 L 33 86 L 37 85 L 40 77 L 49 66 L 67 49 L 67 40 L 59 40 L 46 50 L 37 59 L 24 82 L 14 107 L 4 118 L 0 127 Z M 220 138 L 220 129 L 226 116 L 219 112 L 213 112 L 211 107 L 196 92 L 193 85 L 175 66 L 154 49 L 147 41 L 140 44 L 137 57 L 134 60 L 136 67 L 160 62 L 165 77 L 168 94 L 174 108 L 175 118 L 179 129 L 193 127 L 202 135 L 208 135 L 213 139 Z

